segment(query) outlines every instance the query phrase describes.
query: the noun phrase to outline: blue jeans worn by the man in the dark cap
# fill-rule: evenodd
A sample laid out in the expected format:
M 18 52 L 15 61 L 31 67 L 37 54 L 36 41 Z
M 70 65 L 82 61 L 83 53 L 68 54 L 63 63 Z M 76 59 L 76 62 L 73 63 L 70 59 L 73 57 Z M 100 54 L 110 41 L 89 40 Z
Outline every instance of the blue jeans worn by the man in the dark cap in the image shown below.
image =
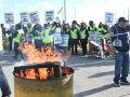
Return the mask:
M 129 73 L 129 52 L 115 53 L 115 78 L 114 82 L 127 81 Z M 120 78 L 121 73 L 121 78 Z

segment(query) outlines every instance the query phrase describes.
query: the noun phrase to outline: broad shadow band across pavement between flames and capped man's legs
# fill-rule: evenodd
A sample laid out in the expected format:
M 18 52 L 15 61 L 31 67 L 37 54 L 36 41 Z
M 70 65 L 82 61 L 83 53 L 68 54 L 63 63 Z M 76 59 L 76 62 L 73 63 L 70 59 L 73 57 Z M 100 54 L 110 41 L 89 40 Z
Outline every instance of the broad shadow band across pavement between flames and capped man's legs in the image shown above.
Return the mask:
M 69 57 L 66 64 L 72 68 L 114 66 L 114 59 L 98 59 L 75 55 Z

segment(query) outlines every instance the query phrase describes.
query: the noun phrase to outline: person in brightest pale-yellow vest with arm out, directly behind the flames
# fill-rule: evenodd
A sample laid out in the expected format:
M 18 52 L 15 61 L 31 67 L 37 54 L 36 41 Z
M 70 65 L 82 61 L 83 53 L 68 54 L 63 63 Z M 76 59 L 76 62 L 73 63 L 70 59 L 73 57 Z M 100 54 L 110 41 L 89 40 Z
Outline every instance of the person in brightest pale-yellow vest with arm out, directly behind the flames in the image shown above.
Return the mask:
M 43 44 L 43 46 L 52 46 L 52 48 L 53 48 L 53 33 L 55 31 L 49 29 L 49 26 L 47 24 L 44 24 L 43 28 L 44 29 L 43 29 L 42 44 Z

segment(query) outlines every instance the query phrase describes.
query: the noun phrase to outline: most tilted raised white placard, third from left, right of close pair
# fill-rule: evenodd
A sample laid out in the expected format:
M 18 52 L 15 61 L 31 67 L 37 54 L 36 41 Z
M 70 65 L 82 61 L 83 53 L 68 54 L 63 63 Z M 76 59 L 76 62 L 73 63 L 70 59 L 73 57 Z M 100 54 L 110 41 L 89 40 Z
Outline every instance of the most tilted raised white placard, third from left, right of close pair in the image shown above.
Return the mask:
M 37 11 L 29 13 L 29 17 L 30 17 L 31 24 L 37 24 L 37 23 L 40 22 L 40 18 L 39 18 L 39 15 L 38 15 Z

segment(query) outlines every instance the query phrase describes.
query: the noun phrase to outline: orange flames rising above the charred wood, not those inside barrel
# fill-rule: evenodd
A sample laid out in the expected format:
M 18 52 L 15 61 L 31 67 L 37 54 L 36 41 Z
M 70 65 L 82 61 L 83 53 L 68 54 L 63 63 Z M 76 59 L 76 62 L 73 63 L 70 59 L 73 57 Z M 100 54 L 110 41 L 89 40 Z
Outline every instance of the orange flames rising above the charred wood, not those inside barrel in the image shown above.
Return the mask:
M 52 51 L 51 46 L 42 46 L 41 51 L 35 48 L 34 44 L 24 44 L 23 47 L 18 47 L 23 53 L 27 54 L 28 58 L 26 64 L 42 64 L 42 63 L 54 63 L 54 61 L 66 61 L 70 57 L 70 52 L 65 50 L 65 54 L 58 53 L 57 51 Z

